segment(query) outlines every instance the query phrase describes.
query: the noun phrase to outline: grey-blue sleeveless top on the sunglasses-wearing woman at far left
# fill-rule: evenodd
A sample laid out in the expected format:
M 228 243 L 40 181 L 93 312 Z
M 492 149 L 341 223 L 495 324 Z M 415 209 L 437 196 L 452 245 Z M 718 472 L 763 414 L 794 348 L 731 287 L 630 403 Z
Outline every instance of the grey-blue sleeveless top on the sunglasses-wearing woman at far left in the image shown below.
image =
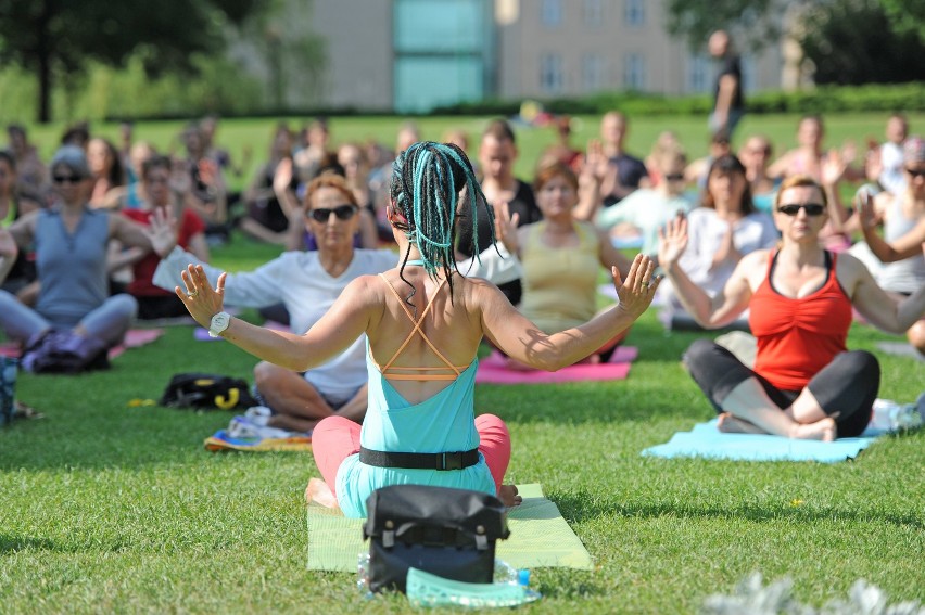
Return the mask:
M 53 325 L 74 326 L 109 296 L 109 213 L 85 208 L 74 233 L 53 209 L 36 221 L 36 270 L 41 281 L 36 311 Z

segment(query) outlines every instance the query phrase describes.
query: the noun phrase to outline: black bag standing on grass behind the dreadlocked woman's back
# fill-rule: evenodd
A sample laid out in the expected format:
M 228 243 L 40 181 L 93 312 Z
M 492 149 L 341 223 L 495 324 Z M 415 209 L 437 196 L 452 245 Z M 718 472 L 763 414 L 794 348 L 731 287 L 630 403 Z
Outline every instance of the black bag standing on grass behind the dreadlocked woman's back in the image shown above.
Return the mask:
M 366 500 L 369 589 L 404 592 L 408 568 L 467 582 L 492 582 L 495 542 L 510 535 L 505 507 L 483 491 L 392 485 Z

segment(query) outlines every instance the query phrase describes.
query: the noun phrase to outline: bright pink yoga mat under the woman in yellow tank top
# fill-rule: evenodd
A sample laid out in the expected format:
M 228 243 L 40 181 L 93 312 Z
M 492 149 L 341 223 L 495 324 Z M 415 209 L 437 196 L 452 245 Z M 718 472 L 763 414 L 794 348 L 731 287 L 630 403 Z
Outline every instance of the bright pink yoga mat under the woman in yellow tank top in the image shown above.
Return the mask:
M 557 372 L 518 371 L 505 367 L 505 359 L 492 353 L 479 361 L 476 382 L 482 384 L 545 384 L 550 382 L 580 382 L 623 380 L 630 373 L 630 363 L 638 355 L 632 346 L 621 346 L 614 350 L 607 363 L 580 363 L 562 368 Z

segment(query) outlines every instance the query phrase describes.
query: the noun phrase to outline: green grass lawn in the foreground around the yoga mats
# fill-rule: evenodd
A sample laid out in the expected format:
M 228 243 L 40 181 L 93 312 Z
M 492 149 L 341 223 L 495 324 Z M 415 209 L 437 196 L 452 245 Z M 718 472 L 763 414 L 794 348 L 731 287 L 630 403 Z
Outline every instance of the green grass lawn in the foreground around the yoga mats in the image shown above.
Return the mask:
M 250 268 L 274 248 L 236 238 L 215 261 Z M 857 461 L 732 463 L 643 458 L 712 415 L 679 358 L 697 337 L 655 312 L 622 382 L 480 385 L 479 411 L 510 426 L 509 478 L 542 483 L 591 552 L 593 572 L 533 571 L 547 613 L 690 613 L 752 572 L 790 576 L 820 606 L 864 578 L 891 601 L 925 600 L 925 432 L 884 438 Z M 853 348 L 884 339 L 856 326 Z M 914 398 L 925 363 L 880 355 L 882 397 Z M 76 377 L 21 375 L 46 414 L 0 432 L 0 613 L 397 613 L 366 603 L 350 575 L 305 569 L 302 453 L 211 453 L 229 414 L 129 407 L 170 375 L 250 380 L 254 359 L 189 326 Z

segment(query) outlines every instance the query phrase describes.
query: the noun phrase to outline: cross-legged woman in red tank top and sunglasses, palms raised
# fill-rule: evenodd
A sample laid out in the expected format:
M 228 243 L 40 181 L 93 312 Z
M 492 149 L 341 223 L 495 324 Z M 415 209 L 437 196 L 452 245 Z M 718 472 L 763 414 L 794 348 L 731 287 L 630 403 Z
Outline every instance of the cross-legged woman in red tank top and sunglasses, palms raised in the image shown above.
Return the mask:
M 784 180 L 773 212 L 778 247 L 745 256 L 712 298 L 676 266 L 686 220 L 679 217 L 660 233 L 659 262 L 699 324 L 718 329 L 749 309 L 758 339 L 753 369 L 709 339 L 685 354 L 690 375 L 720 413 L 721 431 L 822 440 L 859 435 L 871 418 L 880 369 L 872 354 L 846 347 L 852 307 L 896 334 L 925 312 L 925 287 L 896 300 L 850 254 L 821 247 L 826 206 L 812 178 Z

